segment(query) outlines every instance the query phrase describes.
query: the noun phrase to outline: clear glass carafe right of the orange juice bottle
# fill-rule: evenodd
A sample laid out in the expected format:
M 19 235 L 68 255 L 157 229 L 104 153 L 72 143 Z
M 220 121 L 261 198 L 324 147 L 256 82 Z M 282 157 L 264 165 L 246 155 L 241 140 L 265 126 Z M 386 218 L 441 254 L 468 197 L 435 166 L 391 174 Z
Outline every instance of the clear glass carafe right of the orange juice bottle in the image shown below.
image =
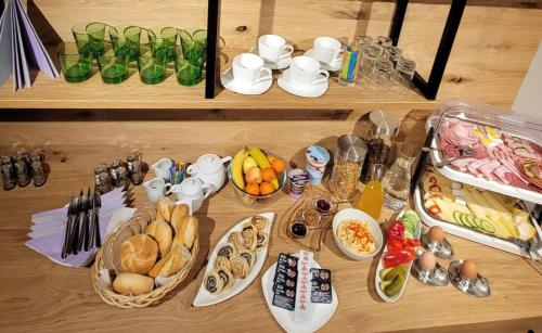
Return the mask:
M 383 179 L 384 203 L 386 207 L 400 210 L 409 201 L 411 166 L 414 156 L 399 148 L 397 159 Z

